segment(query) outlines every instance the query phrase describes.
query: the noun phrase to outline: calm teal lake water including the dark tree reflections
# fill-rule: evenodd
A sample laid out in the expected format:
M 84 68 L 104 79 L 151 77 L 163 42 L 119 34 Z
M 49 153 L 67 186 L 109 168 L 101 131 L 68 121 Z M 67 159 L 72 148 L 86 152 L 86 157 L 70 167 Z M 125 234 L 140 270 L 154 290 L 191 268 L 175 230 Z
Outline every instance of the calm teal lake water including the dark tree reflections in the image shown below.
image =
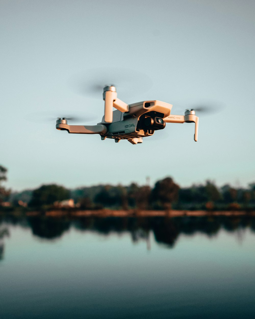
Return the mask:
M 0 318 L 255 318 L 254 218 L 2 218 Z

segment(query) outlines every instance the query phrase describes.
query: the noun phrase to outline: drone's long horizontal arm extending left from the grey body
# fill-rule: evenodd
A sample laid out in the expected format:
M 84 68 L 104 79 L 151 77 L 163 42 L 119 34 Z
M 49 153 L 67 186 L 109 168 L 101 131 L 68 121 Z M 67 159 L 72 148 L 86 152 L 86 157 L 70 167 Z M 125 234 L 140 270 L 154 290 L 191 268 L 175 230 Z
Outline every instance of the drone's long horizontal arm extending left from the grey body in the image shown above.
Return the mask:
M 73 134 L 106 134 L 107 128 L 103 124 L 99 125 L 68 125 L 56 124 L 57 130 L 65 130 Z

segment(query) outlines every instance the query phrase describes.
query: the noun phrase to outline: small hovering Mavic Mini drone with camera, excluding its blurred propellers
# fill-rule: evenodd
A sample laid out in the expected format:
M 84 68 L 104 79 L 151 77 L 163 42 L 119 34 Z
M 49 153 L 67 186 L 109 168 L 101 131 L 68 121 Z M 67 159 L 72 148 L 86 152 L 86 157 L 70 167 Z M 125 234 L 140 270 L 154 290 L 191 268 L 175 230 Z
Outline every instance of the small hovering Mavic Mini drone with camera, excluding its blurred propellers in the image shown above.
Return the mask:
M 114 85 L 103 89 L 105 114 L 97 125 L 69 125 L 67 118 L 58 118 L 57 130 L 72 134 L 99 134 L 101 140 L 128 140 L 131 144 L 142 143 L 143 137 L 149 137 L 157 130 L 163 130 L 166 123 L 195 123 L 194 140 L 198 139 L 198 117 L 194 109 L 186 109 L 184 115 L 172 115 L 172 105 L 158 100 L 126 104 L 117 98 Z M 113 108 L 116 110 L 113 111 Z

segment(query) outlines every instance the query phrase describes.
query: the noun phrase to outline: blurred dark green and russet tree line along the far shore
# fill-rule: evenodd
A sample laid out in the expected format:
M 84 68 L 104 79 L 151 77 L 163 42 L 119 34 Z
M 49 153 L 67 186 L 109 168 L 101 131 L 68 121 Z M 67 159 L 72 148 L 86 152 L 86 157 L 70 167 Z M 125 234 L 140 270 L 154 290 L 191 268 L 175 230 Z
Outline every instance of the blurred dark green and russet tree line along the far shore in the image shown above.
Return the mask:
M 229 184 L 218 188 L 212 181 L 182 188 L 171 177 L 165 177 L 153 187 L 131 183 L 128 186 L 107 184 L 67 189 L 50 184 L 11 193 L 1 186 L 1 181 L 6 180 L 6 173 L 6 168 L 0 166 L 0 204 L 9 200 L 12 207 L 25 203 L 28 208 L 47 209 L 72 198 L 79 209 L 255 209 L 255 183 L 249 184 L 247 189 L 234 188 Z

